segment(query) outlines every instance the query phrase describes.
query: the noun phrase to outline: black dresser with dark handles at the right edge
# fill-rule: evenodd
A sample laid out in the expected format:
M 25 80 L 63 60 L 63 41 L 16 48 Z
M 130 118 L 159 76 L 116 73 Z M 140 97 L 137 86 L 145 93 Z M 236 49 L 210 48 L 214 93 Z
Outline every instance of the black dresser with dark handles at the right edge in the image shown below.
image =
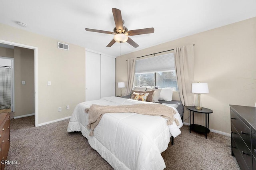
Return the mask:
M 256 107 L 230 105 L 231 151 L 241 170 L 256 170 Z

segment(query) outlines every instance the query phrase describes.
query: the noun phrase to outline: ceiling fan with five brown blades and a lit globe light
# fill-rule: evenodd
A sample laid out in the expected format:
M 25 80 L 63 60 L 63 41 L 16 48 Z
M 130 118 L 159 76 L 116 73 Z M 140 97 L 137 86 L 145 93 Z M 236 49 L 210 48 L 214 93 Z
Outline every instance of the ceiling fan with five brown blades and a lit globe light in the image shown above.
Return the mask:
M 141 35 L 141 34 L 150 34 L 154 33 L 154 28 L 144 28 L 144 29 L 139 29 L 139 30 L 130 30 L 124 26 L 124 20 L 122 20 L 122 15 L 121 11 L 112 8 L 113 16 L 114 16 L 114 21 L 116 24 L 116 27 L 114 28 L 114 32 L 110 31 L 102 31 L 102 30 L 94 30 L 90 28 L 86 28 L 86 31 L 90 32 L 99 32 L 99 33 L 104 33 L 104 34 L 114 34 L 114 39 L 107 45 L 107 47 L 111 47 L 115 42 L 123 43 L 123 42 L 128 42 L 130 45 L 133 47 L 138 47 L 139 45 L 134 42 L 131 38 L 128 36 L 136 36 L 136 35 Z

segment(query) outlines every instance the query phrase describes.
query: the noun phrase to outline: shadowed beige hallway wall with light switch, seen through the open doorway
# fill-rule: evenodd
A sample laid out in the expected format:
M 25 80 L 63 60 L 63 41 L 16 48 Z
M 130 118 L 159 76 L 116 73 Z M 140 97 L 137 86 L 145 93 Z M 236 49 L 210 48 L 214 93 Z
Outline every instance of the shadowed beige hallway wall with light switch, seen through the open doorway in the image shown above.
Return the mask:
M 34 84 L 34 50 L 14 47 L 15 117 L 35 113 Z

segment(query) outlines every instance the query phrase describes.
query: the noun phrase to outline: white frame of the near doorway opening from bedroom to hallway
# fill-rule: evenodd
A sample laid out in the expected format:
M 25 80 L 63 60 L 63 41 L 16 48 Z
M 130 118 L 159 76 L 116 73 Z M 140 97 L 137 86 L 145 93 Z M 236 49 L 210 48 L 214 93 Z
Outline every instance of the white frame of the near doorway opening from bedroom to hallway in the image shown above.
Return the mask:
M 9 42 L 0 40 L 0 43 L 13 45 L 17 47 L 23 47 L 28 49 L 34 49 L 34 78 L 35 78 L 35 127 L 38 127 L 38 47 L 25 45 L 21 43 Z

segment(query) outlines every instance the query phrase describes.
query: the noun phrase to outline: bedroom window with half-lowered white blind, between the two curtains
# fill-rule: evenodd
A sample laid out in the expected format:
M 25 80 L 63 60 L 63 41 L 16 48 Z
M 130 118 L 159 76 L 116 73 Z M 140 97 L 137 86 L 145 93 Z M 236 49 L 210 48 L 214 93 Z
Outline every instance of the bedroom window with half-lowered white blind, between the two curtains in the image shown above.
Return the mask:
M 160 88 L 175 87 L 178 91 L 174 53 L 137 60 L 134 85 Z

